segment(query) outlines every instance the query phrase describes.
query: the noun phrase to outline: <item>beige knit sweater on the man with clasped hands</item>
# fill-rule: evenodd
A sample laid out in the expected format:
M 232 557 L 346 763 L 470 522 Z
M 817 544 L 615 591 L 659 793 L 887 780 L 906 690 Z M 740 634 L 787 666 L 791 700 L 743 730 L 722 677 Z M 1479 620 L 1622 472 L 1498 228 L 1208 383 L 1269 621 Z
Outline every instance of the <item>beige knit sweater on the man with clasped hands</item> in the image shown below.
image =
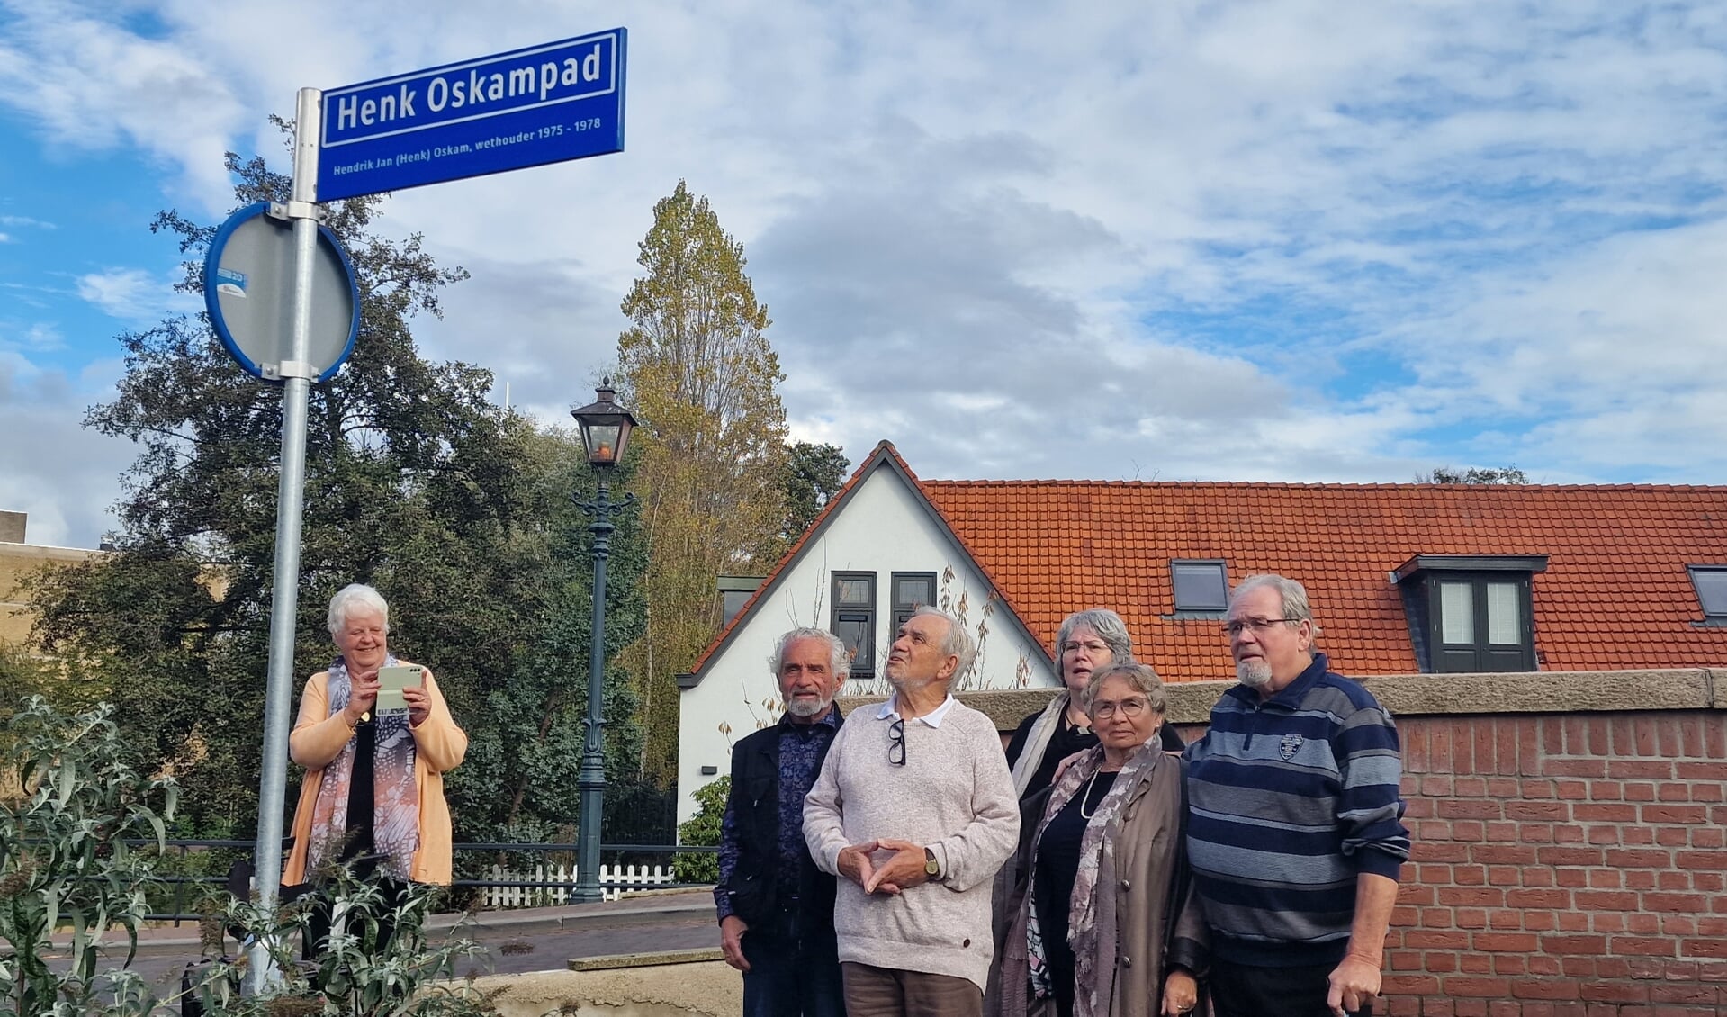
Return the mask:
M 990 977 L 990 881 L 1019 844 L 1019 803 L 1002 739 L 983 713 L 952 703 L 931 727 L 905 722 L 905 765 L 888 761 L 879 706 L 853 710 L 803 803 L 815 863 L 838 874 L 848 844 L 898 837 L 926 844 L 938 882 L 865 894 L 839 879 L 839 960 L 971 979 Z M 886 862 L 891 851 L 876 855 Z

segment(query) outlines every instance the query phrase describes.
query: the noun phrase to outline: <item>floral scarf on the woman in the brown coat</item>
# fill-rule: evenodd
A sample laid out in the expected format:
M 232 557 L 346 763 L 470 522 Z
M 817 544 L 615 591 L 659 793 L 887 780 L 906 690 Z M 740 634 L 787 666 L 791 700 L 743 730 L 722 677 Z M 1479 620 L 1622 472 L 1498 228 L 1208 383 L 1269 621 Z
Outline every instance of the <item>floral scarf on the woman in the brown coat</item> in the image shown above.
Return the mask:
M 1098 865 L 1104 860 L 1104 851 L 1114 848 L 1112 827 L 1121 813 L 1121 806 L 1128 801 L 1133 787 L 1140 784 L 1140 777 L 1150 767 L 1157 765 L 1157 755 L 1161 751 L 1161 742 L 1157 732 L 1140 746 L 1128 763 L 1121 768 L 1116 782 L 1110 786 L 1109 794 L 1104 801 L 1097 805 L 1097 812 L 1086 820 L 1085 834 L 1079 836 L 1079 874 L 1074 879 L 1074 891 L 1069 898 L 1067 910 L 1067 944 L 1074 951 L 1074 1017 L 1093 1017 L 1097 1008 L 1097 874 Z M 1043 820 L 1038 825 L 1038 841 L 1043 839 L 1043 827 L 1050 824 L 1052 818 L 1069 803 L 1074 794 L 1083 794 L 1081 787 L 1091 780 L 1091 777 L 1104 767 L 1104 746 L 1095 746 L 1076 763 L 1067 767 L 1062 779 L 1055 782 L 1053 791 L 1050 791 L 1050 803 L 1043 810 Z M 1036 870 L 1038 856 L 1036 848 L 1031 855 L 1033 870 Z M 1050 977 L 1048 962 L 1043 951 L 1043 931 L 1038 925 L 1038 908 L 1031 905 L 1029 894 L 1026 906 L 1031 915 L 1026 922 L 1026 962 L 1031 969 L 1031 988 L 1036 998 L 1043 1000 L 1055 993 L 1055 984 Z

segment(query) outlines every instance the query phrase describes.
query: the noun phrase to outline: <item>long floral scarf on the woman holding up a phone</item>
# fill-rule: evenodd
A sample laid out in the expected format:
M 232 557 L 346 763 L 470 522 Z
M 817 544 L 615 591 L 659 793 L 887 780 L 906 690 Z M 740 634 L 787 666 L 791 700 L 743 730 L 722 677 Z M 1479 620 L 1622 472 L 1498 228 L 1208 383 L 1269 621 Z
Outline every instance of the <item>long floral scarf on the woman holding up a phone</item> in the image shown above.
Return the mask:
M 395 654 L 385 658 L 385 666 L 395 665 Z M 326 685 L 330 717 L 347 708 L 352 682 L 347 663 L 337 658 L 330 665 Z M 408 879 L 414 851 L 420 850 L 420 791 L 414 787 L 414 736 L 408 717 L 378 717 L 371 756 L 371 843 L 383 856 L 382 867 L 395 879 Z M 342 753 L 323 768 L 318 801 L 313 806 L 313 839 L 307 850 L 306 872 L 342 856 L 347 841 L 347 796 L 354 777 L 354 749 L 357 734 L 351 734 Z

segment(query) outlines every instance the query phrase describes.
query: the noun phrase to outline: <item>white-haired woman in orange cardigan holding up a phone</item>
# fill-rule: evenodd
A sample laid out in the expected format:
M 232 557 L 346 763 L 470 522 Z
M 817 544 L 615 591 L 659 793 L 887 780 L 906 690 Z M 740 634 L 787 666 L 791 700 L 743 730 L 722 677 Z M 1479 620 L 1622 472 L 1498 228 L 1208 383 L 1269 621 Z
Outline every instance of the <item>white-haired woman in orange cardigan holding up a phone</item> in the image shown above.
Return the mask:
M 376 710 L 378 672 L 404 663 L 390 654 L 390 606 L 378 591 L 342 587 L 330 599 L 330 635 L 342 653 L 306 682 L 288 737 L 306 782 L 282 882 L 297 886 L 332 863 L 351 863 L 363 877 L 376 870 L 397 882 L 447 884 L 444 774 L 461 763 L 468 736 L 430 668 L 402 687 L 406 713 Z

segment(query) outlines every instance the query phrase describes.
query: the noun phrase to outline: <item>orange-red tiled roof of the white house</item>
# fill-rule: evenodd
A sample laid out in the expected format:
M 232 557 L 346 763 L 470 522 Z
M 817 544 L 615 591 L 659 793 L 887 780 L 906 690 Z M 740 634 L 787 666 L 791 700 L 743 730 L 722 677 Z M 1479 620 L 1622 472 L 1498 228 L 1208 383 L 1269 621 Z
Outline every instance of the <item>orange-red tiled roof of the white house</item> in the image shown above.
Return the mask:
M 924 480 L 926 496 L 1048 646 L 1069 611 L 1121 613 L 1169 680 L 1233 673 L 1216 620 L 1174 620 L 1173 558 L 1230 582 L 1307 585 L 1344 673 L 1413 673 L 1387 573 L 1414 554 L 1546 554 L 1534 577 L 1542 670 L 1727 665 L 1686 565 L 1727 565 L 1727 487 Z

